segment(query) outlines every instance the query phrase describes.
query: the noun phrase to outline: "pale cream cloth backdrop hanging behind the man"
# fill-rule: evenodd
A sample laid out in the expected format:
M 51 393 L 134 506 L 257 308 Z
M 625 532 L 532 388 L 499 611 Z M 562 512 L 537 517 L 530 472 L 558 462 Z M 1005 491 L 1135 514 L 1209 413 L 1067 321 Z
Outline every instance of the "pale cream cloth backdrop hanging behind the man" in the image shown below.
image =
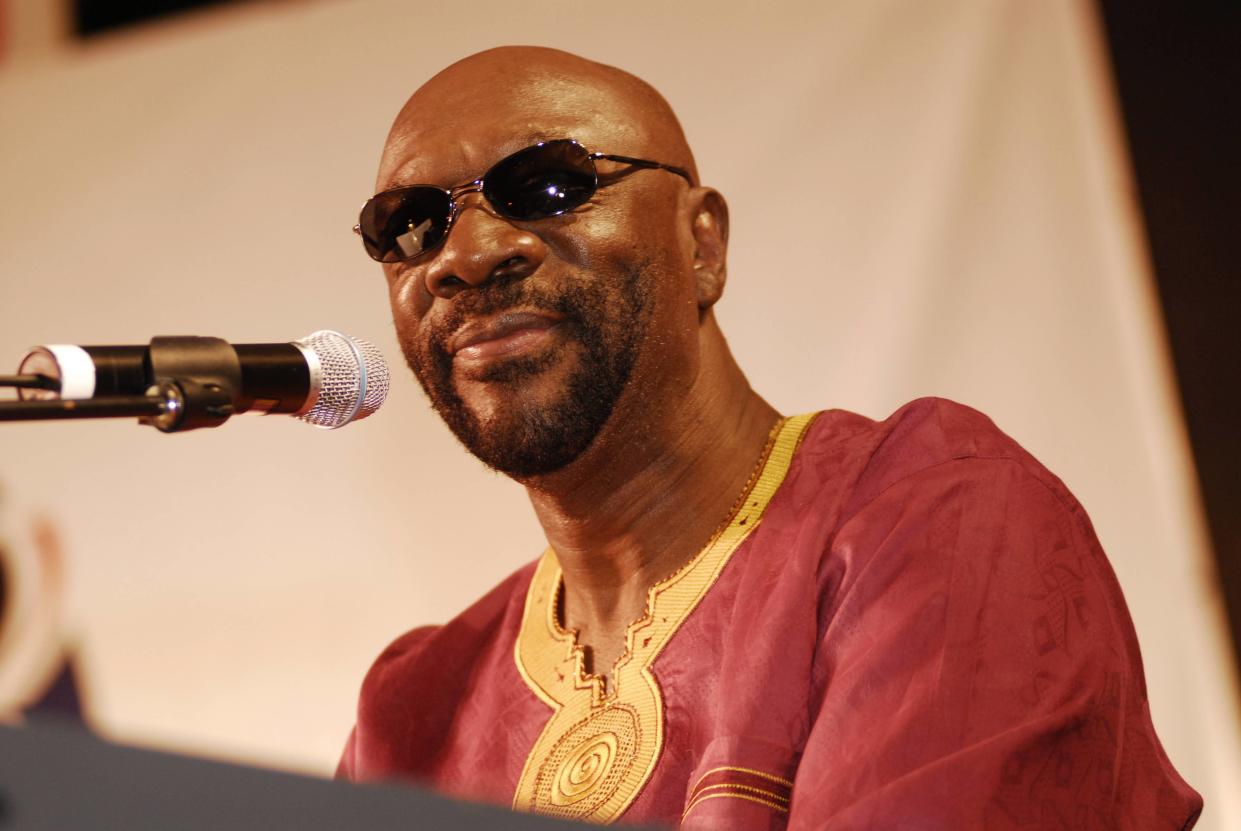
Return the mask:
M 1224 649 L 1101 35 L 1071 0 L 277 2 L 0 73 L 0 355 L 335 327 L 393 365 L 338 433 L 237 418 L 4 425 L 0 482 L 65 538 L 107 733 L 326 773 L 361 676 L 541 551 L 401 366 L 349 228 L 406 96 L 504 42 L 628 68 L 732 207 L 725 331 L 784 412 L 988 412 L 1086 505 L 1169 755 L 1241 827 Z M 2 365 L 0 365 L 2 366 Z

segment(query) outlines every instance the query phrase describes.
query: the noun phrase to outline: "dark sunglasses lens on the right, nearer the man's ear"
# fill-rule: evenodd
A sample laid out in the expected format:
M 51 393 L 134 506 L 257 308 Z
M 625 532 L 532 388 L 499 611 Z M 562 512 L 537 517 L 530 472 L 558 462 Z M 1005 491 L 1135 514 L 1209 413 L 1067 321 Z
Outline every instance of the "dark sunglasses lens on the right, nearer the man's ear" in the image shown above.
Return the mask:
M 585 205 L 598 186 L 594 162 L 576 141 L 547 141 L 486 171 L 483 193 L 514 220 L 542 220 Z

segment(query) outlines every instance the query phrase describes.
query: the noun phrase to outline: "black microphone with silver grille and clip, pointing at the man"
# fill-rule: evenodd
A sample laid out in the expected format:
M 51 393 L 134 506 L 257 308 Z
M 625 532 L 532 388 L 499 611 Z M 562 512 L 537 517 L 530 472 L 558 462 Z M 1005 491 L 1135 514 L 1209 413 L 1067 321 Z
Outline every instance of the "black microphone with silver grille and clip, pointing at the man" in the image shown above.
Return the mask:
M 261 411 L 335 429 L 374 413 L 388 391 L 387 363 L 375 345 L 329 329 L 289 344 L 233 345 L 218 337 L 154 337 L 146 346 L 50 344 L 30 350 L 17 372 L 46 376 L 42 389 L 19 389 L 22 399 L 119 399 L 150 396 L 153 387 L 171 382 L 187 411 L 194 391 L 206 389 L 215 423 L 195 427 Z M 176 402 L 170 407 L 176 411 Z

